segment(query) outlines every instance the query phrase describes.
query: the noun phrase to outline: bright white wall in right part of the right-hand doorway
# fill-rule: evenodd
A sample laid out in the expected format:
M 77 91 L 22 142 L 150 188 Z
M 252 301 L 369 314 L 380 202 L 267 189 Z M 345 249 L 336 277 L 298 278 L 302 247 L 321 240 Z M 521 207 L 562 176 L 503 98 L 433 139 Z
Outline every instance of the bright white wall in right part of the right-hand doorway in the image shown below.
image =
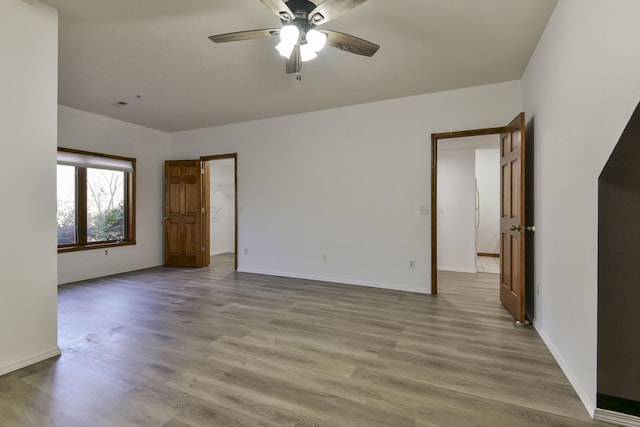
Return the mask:
M 496 145 L 500 138 L 496 135 Z M 480 194 L 476 249 L 479 253 L 500 253 L 500 148 L 476 150 L 476 178 Z

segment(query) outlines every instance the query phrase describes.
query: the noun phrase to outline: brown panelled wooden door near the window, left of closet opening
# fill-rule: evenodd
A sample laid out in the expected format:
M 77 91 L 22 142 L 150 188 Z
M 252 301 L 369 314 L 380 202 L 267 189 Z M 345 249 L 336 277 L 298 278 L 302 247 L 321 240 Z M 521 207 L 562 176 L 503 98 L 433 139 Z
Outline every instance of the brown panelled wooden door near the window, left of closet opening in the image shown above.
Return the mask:
M 168 266 L 203 267 L 209 264 L 209 191 L 206 162 L 169 160 L 164 166 L 164 263 Z M 207 179 L 203 179 L 207 178 Z M 206 240 L 205 240 L 206 239 Z

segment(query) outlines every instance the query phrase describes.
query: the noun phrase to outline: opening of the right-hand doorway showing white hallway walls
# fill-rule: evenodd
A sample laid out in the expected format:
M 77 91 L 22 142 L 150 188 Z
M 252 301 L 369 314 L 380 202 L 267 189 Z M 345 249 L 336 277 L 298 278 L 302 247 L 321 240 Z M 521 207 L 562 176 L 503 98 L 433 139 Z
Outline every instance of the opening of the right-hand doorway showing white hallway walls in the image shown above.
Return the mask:
M 499 274 L 500 137 L 440 144 L 437 185 L 438 270 Z

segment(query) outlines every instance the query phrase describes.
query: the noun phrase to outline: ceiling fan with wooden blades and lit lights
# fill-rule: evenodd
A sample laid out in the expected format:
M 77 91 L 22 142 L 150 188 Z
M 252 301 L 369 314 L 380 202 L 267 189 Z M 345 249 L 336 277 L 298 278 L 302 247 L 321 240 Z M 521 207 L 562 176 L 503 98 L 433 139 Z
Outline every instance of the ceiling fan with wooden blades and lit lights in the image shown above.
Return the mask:
M 282 22 L 282 28 L 238 31 L 218 34 L 209 39 L 215 43 L 253 40 L 280 36 L 276 49 L 287 59 L 286 70 L 300 80 L 302 63 L 317 56 L 325 44 L 363 56 L 373 56 L 380 46 L 367 40 L 333 30 L 316 27 L 337 18 L 366 0 L 324 0 L 313 3 L 308 0 L 260 0 Z

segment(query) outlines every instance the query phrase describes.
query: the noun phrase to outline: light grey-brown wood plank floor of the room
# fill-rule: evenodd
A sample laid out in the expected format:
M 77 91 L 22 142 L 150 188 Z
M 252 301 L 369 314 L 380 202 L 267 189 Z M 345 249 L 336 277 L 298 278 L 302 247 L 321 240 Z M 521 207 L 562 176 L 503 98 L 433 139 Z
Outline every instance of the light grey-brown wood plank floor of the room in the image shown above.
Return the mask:
M 432 297 L 231 263 L 62 286 L 63 355 L 0 377 L 0 425 L 601 425 L 494 275 Z

